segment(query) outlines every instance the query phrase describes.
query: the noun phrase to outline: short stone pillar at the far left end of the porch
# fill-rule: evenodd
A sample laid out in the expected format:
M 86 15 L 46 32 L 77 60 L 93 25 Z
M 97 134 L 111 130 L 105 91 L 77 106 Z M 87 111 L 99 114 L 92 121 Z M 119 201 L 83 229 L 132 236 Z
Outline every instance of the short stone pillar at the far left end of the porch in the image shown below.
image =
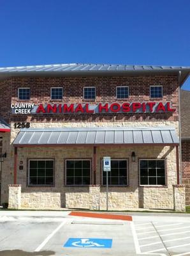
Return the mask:
M 21 205 L 21 185 L 9 185 L 8 208 L 20 209 Z

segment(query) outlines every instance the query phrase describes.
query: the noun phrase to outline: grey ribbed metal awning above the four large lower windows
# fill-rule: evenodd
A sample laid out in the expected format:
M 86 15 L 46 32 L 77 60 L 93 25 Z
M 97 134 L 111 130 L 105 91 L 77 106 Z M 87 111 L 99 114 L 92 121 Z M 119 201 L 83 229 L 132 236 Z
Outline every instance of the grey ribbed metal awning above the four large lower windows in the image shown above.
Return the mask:
M 174 128 L 22 129 L 13 145 L 102 145 L 179 143 Z

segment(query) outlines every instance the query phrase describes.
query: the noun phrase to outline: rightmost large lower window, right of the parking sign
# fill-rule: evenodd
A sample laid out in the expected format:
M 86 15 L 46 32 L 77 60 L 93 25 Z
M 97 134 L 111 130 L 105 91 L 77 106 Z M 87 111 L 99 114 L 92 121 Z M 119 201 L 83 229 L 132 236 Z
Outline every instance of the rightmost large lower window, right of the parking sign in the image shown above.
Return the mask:
M 165 161 L 163 159 L 140 160 L 140 185 L 165 184 Z

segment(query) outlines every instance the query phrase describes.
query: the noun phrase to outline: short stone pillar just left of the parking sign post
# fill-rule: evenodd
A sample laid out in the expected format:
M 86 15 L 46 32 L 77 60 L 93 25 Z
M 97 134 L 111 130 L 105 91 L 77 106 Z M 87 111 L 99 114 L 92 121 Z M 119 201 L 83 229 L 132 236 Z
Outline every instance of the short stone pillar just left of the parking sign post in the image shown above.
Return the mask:
M 90 193 L 89 209 L 90 210 L 99 210 L 100 186 L 99 185 L 89 186 L 89 193 Z

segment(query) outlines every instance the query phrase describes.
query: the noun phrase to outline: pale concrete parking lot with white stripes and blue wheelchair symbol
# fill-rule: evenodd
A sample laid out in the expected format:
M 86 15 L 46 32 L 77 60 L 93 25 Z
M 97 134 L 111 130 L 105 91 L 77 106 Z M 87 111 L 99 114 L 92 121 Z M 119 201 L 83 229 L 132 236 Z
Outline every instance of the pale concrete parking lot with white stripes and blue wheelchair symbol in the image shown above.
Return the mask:
M 0 256 L 190 255 L 190 216 L 131 214 L 133 221 L 69 212 L 0 211 Z

